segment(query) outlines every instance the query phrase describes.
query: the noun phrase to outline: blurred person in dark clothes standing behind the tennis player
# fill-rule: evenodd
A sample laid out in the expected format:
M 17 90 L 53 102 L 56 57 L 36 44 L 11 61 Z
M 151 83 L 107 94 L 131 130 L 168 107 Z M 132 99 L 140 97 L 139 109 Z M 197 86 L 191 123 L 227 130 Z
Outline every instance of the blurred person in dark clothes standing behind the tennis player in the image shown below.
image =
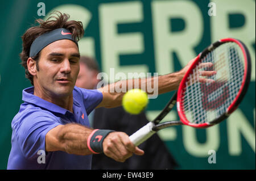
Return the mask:
M 97 61 L 88 56 L 81 56 L 76 86 L 84 89 L 96 89 L 97 83 L 101 81 L 97 79 L 98 73 L 100 73 L 100 68 Z M 88 118 L 94 129 L 112 129 L 125 132 L 128 135 L 148 123 L 145 112 L 131 115 L 126 113 L 122 107 L 97 108 L 90 113 Z M 151 144 L 152 142 L 154 144 Z M 175 169 L 177 167 L 175 159 L 172 158 L 158 134 L 154 134 L 143 142 L 139 148 L 145 151 L 144 155 L 133 155 L 123 163 L 114 161 L 104 154 L 94 154 L 92 169 Z M 155 154 L 156 152 L 158 154 Z

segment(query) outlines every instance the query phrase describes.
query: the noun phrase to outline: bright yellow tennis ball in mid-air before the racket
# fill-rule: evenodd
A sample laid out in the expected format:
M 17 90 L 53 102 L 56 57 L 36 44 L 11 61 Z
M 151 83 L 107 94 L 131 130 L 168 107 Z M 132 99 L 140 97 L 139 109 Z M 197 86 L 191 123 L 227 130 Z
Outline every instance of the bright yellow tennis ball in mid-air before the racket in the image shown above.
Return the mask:
M 148 104 L 147 93 L 141 89 L 131 89 L 123 95 L 122 104 L 126 112 L 137 115 Z

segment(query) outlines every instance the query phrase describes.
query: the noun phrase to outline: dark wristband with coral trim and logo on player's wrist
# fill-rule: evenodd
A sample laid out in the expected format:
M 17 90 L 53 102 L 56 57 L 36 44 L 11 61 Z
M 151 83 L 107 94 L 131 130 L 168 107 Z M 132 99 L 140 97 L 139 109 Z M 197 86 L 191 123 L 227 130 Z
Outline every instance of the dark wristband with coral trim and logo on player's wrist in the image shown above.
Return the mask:
M 109 133 L 114 132 L 109 129 L 94 129 L 92 133 L 90 133 L 87 146 L 92 153 L 98 154 L 103 152 L 103 140 Z

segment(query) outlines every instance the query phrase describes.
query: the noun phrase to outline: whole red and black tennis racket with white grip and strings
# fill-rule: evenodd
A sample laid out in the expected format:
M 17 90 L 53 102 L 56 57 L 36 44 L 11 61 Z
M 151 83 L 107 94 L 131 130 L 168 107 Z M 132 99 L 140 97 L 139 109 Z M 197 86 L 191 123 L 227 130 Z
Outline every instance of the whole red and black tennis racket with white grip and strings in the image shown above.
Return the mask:
M 215 73 L 202 76 L 207 71 Z M 220 123 L 241 103 L 250 76 L 251 60 L 245 44 L 232 38 L 211 44 L 193 61 L 163 111 L 132 134 L 131 142 L 138 146 L 160 129 L 173 125 L 207 128 Z M 175 103 L 180 120 L 160 123 Z

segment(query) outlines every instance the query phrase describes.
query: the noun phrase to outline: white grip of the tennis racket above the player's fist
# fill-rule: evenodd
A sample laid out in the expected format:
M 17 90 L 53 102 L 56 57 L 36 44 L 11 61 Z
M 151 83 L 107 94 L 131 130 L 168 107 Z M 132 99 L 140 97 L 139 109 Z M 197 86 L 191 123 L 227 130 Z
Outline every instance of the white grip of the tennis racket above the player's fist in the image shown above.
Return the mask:
M 131 142 L 133 142 L 135 146 L 141 145 L 142 142 L 146 141 L 153 134 L 155 134 L 155 131 L 152 131 L 154 125 L 154 123 L 149 122 L 148 124 L 144 125 L 144 127 L 139 129 L 137 132 L 131 134 L 131 136 L 129 137 Z

